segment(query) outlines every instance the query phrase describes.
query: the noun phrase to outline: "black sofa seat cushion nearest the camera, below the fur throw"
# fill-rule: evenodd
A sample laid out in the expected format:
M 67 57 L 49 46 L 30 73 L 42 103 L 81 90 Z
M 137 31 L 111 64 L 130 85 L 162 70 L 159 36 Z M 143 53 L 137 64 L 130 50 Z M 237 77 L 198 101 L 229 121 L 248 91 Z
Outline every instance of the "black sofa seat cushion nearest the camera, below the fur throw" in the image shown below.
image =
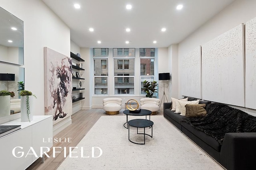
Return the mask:
M 192 127 L 190 124 L 186 122 L 181 122 L 182 128 L 185 127 L 188 131 L 196 135 L 198 138 L 200 138 L 202 141 L 210 145 L 212 148 L 220 152 L 221 145 L 218 143 L 216 139 L 213 137 L 206 135 L 206 133 L 196 130 L 194 127 Z

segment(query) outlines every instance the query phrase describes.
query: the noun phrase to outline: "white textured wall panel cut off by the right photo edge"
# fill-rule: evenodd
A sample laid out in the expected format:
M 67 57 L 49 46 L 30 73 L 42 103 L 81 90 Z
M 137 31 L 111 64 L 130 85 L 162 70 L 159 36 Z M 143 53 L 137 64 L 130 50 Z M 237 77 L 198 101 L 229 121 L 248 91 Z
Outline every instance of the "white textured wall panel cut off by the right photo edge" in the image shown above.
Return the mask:
M 256 18 L 245 24 L 245 107 L 256 109 Z

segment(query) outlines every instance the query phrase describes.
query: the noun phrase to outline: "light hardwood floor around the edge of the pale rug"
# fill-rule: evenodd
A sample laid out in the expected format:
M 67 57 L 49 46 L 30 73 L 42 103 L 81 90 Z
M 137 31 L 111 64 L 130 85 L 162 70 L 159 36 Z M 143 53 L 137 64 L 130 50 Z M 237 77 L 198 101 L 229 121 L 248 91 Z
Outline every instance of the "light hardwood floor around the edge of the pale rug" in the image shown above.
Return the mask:
M 117 115 L 124 115 L 124 109 L 120 110 L 120 113 Z M 71 138 L 71 143 L 68 142 L 57 142 L 53 143 L 53 147 L 62 147 L 62 149 L 56 149 L 57 151 L 61 151 L 60 153 L 56 153 L 55 158 L 52 155 L 52 149 L 48 153 L 49 158 L 45 156 L 45 162 L 41 162 L 41 158 L 36 160 L 30 167 L 26 170 L 56 170 L 64 158 L 64 147 L 76 147 L 76 145 L 83 139 L 86 133 L 91 129 L 91 127 L 98 121 L 98 119 L 102 116 L 106 115 L 103 109 L 90 109 L 90 110 L 80 110 L 71 116 L 72 124 L 66 127 L 63 131 L 54 136 L 57 139 L 68 139 Z M 163 109 L 158 111 L 157 115 L 163 115 Z M 108 115 L 113 116 L 113 115 Z M 154 115 L 152 115 L 154 116 Z M 124 127 L 120 127 L 124 128 Z M 63 140 L 62 140 L 63 141 Z

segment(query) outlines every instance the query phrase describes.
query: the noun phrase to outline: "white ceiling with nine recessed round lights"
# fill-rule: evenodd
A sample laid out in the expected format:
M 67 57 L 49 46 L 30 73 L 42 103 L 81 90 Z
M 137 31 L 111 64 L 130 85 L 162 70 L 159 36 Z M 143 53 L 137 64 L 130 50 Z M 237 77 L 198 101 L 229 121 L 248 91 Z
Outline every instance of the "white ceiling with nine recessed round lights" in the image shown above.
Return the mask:
M 70 27 L 70 38 L 80 47 L 138 48 L 179 43 L 234 0 L 42 1 Z M 75 3 L 81 8 L 75 9 Z M 127 10 L 126 4 L 132 9 Z M 178 4 L 183 4 L 182 10 L 176 10 Z

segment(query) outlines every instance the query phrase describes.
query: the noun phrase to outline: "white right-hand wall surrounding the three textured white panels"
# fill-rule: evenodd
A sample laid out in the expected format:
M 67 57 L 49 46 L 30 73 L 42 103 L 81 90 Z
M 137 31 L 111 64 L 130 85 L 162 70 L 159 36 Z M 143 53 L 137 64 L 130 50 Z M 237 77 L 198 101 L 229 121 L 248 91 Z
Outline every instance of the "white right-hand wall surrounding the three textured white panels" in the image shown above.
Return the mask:
M 199 45 L 203 45 L 204 43 L 214 39 L 218 35 L 236 27 L 240 23 L 245 23 L 246 21 L 255 18 L 255 0 L 236 0 L 230 6 L 225 8 L 222 12 L 214 16 L 211 20 L 202 25 L 199 29 L 197 29 L 194 33 L 189 35 L 186 39 L 184 39 L 178 46 L 178 56 L 179 56 L 179 73 L 181 68 L 181 56 L 188 53 L 192 49 L 198 47 Z M 181 75 L 179 74 L 179 77 Z M 180 79 L 179 79 L 180 80 Z M 180 87 L 180 82 L 179 82 Z M 180 94 L 179 88 L 179 97 L 182 97 Z M 252 113 L 256 115 L 255 110 L 252 109 L 241 109 L 248 111 L 248 113 Z

